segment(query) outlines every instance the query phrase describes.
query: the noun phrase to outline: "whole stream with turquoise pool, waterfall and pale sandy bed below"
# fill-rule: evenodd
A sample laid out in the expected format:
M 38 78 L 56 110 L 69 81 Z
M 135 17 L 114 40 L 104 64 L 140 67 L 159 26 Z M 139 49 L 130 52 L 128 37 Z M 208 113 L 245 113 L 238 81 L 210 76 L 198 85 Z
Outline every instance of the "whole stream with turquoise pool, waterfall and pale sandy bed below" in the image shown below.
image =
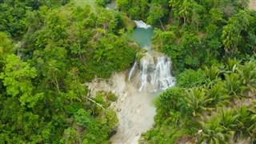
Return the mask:
M 154 125 L 156 109 L 152 100 L 163 90 L 175 85 L 170 58 L 150 48 L 153 26 L 142 21 L 134 22 L 137 27 L 130 38 L 138 42 L 147 51 L 146 54 L 139 61 L 136 59 L 130 70 L 114 73 L 107 80 L 96 78 L 87 83 L 91 95 L 104 90 L 118 97 L 111 104 L 119 119 L 117 133 L 110 138 L 113 144 L 138 143 L 141 134 Z

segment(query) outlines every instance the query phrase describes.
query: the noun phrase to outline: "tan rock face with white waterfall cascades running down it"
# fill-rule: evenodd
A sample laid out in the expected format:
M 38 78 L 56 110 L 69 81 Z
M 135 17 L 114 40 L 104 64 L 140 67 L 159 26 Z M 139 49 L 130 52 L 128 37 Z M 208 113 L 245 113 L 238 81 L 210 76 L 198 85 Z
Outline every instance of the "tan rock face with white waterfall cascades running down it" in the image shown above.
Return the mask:
M 147 52 L 140 62 L 135 62 L 128 80 L 135 83 L 139 91 L 166 90 L 175 85 L 170 58 L 158 52 Z

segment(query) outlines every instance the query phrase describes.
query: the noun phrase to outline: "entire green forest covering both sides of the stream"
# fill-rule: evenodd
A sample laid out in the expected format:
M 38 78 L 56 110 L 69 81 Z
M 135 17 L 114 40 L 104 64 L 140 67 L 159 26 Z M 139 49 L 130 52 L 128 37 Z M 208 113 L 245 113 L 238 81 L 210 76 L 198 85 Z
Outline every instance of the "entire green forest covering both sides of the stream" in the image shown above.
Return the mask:
M 127 70 L 130 19 L 155 27 L 177 85 L 141 143 L 256 142 L 256 11 L 248 0 L 0 0 L 0 143 L 108 143 L 114 94 L 85 82 Z M 128 33 L 126 32 L 128 31 Z

